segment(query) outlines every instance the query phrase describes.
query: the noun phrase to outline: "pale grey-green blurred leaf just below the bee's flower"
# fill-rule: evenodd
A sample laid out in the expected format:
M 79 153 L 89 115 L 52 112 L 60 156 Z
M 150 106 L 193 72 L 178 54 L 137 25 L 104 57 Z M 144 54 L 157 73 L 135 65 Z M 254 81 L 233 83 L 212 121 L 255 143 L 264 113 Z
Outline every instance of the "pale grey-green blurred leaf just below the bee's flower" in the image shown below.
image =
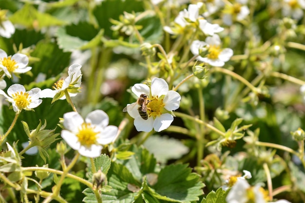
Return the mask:
M 171 159 L 179 159 L 189 152 L 189 148 L 182 142 L 167 136 L 152 135 L 143 145 L 161 163 L 166 163 Z

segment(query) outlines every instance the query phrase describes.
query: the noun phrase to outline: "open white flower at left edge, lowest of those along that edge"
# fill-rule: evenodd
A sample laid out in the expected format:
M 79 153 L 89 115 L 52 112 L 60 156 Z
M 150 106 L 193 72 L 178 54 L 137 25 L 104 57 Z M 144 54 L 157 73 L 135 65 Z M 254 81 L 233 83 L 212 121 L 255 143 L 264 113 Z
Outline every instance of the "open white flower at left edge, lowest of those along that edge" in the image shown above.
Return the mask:
M 36 108 L 42 100 L 39 99 L 41 90 L 36 87 L 30 91 L 26 91 L 21 84 L 13 84 L 7 89 L 7 94 L 0 90 L 0 95 L 6 97 L 8 102 L 12 103 L 13 109 L 16 113 L 20 113 L 22 109 L 32 110 Z

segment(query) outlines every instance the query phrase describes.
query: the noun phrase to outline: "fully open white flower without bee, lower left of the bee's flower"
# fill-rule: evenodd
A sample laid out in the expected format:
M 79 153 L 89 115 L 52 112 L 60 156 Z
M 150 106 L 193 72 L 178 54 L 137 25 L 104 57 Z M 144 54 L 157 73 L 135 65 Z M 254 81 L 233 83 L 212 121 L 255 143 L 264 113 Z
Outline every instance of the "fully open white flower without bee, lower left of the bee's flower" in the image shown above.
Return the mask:
M 102 144 L 113 142 L 117 133 L 117 127 L 108 125 L 109 117 L 102 110 L 92 111 L 85 120 L 77 112 L 65 113 L 63 119 L 61 137 L 85 157 L 98 157 Z

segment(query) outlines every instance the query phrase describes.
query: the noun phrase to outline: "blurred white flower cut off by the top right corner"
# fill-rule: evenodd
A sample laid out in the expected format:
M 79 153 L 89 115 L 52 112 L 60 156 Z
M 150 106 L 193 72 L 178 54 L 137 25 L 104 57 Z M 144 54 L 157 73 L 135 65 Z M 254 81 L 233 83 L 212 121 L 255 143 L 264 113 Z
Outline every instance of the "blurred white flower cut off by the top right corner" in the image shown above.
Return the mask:
M 284 0 L 282 8 L 283 16 L 291 16 L 293 19 L 299 20 L 304 14 L 305 0 Z

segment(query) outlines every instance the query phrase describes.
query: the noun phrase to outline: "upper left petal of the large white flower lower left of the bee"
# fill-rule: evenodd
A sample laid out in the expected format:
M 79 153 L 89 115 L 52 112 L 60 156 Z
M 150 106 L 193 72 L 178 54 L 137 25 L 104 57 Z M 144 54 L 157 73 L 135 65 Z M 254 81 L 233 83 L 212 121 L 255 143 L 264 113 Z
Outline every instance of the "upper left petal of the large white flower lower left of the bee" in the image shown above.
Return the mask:
M 71 132 L 78 132 L 78 128 L 84 122 L 83 118 L 77 112 L 68 112 L 63 115 L 63 126 Z

